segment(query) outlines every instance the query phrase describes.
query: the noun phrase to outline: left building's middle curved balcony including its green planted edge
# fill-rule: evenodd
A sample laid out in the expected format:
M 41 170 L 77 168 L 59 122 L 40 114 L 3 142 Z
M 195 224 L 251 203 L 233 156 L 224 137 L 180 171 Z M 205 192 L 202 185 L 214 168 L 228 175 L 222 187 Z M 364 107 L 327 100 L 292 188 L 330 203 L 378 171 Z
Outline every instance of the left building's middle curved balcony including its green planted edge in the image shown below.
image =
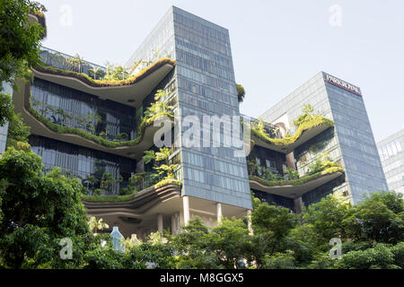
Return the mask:
M 160 129 L 160 126 L 154 126 L 156 115 L 146 120 L 140 126 L 139 136 L 132 141 L 127 142 L 110 142 L 100 136 L 91 135 L 78 128 L 70 128 L 59 126 L 51 123 L 45 117 L 42 117 L 35 109 L 31 108 L 30 83 L 23 83 L 18 80 L 19 91 L 13 92 L 13 103 L 16 112 L 22 113 L 24 122 L 31 126 L 31 133 L 53 138 L 62 142 L 74 143 L 84 147 L 88 147 L 101 152 L 109 152 L 133 159 L 140 159 L 143 152 L 150 149 L 154 144 L 154 134 Z

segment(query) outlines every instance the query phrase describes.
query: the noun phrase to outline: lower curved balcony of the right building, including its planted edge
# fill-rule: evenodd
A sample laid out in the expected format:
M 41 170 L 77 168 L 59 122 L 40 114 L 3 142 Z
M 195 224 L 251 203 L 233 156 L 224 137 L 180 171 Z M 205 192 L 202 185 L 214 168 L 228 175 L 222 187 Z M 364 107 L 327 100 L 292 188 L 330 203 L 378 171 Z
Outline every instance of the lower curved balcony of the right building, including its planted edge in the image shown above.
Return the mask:
M 298 198 L 314 188 L 321 187 L 329 181 L 342 176 L 344 170 L 340 167 L 331 167 L 293 180 L 269 181 L 256 176 L 250 176 L 250 188 L 278 196 Z

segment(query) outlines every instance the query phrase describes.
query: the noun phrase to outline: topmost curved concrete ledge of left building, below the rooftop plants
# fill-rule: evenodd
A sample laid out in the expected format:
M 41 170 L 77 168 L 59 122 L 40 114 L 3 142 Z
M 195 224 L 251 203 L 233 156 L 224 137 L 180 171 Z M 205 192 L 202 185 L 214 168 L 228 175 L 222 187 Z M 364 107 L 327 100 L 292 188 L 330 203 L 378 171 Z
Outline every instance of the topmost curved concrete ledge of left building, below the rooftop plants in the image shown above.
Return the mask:
M 174 65 L 174 60 L 160 59 L 139 74 L 123 81 L 92 80 L 84 74 L 48 66 L 35 66 L 31 70 L 37 78 L 90 93 L 102 100 L 113 100 L 138 108 Z

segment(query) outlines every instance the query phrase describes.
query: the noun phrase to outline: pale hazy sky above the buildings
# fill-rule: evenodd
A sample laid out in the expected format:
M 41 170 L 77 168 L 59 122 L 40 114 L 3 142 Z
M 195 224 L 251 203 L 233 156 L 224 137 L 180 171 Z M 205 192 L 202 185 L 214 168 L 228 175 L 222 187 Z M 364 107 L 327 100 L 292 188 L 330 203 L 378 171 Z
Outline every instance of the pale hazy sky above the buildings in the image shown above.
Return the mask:
M 404 128 L 404 1 L 37 0 L 42 44 L 124 65 L 171 5 L 230 32 L 241 112 L 259 117 L 320 71 L 359 86 L 376 142 Z

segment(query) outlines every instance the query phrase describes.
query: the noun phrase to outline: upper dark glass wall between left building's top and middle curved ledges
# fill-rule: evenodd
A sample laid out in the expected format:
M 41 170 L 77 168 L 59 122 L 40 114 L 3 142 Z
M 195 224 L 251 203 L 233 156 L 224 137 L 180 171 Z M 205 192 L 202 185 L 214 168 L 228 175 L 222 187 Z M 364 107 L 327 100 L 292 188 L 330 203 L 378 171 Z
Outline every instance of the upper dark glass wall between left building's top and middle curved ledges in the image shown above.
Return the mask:
M 106 134 L 110 141 L 136 138 L 136 109 L 111 100 L 100 100 L 83 91 L 35 78 L 31 105 L 44 117 L 62 126 Z

